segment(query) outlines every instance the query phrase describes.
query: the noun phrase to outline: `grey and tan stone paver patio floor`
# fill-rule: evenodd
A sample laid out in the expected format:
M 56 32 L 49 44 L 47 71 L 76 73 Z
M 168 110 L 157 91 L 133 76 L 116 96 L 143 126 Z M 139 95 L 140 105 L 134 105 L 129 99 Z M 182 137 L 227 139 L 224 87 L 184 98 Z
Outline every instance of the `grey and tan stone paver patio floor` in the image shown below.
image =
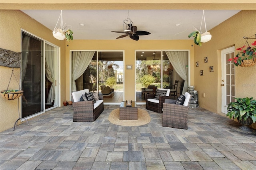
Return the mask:
M 185 130 L 162 127 L 162 114 L 148 111 L 150 123 L 125 127 L 108 121 L 116 108 L 104 105 L 95 122 L 76 123 L 72 106 L 59 107 L 0 132 L 0 169 L 256 169 L 256 135 L 226 117 L 190 108 Z

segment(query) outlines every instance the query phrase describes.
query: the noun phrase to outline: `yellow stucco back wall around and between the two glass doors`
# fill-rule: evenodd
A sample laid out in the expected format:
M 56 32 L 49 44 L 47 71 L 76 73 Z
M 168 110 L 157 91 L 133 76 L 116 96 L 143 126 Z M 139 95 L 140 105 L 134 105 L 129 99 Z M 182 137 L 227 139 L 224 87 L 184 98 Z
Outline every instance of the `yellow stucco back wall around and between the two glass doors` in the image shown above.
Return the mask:
M 135 100 L 135 50 L 189 50 L 190 62 L 194 63 L 193 40 L 74 40 L 66 47 L 66 73 L 70 73 L 70 51 L 72 50 L 124 50 L 124 66 L 133 65 L 132 70 L 124 69 L 124 99 Z M 193 45 L 193 46 L 192 46 Z M 194 65 L 190 67 L 190 85 L 194 85 Z M 70 94 L 70 74 L 66 75 L 66 93 Z

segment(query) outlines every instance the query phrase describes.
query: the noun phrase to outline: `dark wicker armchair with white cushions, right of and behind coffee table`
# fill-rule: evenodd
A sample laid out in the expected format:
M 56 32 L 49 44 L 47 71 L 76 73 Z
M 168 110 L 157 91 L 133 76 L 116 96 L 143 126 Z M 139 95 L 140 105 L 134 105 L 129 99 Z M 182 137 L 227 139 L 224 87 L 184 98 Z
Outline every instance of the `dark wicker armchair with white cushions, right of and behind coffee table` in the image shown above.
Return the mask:
M 163 90 L 163 89 L 158 89 L 158 90 Z M 165 99 L 170 99 L 170 89 L 165 89 L 168 90 L 166 93 L 166 96 L 160 96 L 159 100 L 155 100 L 154 97 L 156 94 L 146 94 L 146 109 L 150 111 L 154 111 L 157 113 L 163 113 L 163 103 Z

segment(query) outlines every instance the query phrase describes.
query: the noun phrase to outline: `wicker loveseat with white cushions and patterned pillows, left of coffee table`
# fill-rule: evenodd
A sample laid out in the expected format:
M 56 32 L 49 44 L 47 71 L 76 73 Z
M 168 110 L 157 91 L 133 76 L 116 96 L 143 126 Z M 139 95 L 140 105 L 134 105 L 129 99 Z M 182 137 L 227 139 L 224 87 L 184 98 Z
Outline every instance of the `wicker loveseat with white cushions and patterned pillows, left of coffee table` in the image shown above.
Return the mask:
M 88 93 L 89 89 L 84 89 L 72 93 L 74 116 L 73 122 L 94 122 L 104 111 L 103 96 L 99 96 L 96 103 L 93 101 L 80 101 L 83 94 Z

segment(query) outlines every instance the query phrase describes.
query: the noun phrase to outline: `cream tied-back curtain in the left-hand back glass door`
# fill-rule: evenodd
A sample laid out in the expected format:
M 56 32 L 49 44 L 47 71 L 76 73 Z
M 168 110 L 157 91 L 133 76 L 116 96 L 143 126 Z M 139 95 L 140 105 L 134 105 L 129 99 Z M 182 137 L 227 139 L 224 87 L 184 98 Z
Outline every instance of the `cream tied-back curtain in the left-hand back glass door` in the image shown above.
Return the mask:
M 72 92 L 76 91 L 78 79 L 92 61 L 95 51 L 73 51 L 72 53 Z

